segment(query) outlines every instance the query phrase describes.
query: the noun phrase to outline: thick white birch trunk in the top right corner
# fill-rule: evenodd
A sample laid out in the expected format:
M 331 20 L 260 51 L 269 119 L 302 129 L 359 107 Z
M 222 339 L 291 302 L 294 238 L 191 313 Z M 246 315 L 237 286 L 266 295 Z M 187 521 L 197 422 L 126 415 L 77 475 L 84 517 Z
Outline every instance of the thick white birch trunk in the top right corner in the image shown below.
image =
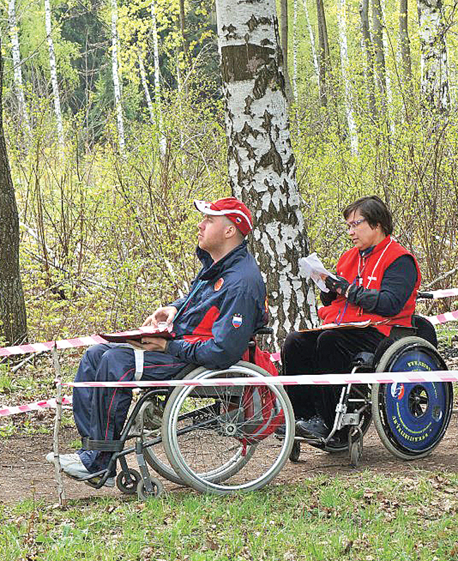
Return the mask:
M 418 0 L 421 45 L 421 92 L 431 109 L 450 106 L 447 46 L 442 0 Z

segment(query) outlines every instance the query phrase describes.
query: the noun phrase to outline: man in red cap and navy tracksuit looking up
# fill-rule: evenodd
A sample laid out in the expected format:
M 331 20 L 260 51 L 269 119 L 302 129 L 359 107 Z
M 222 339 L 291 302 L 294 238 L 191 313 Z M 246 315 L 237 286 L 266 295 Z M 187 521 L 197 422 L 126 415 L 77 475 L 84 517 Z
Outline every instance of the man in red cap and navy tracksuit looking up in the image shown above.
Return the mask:
M 144 326 L 173 322 L 175 333 L 169 340 L 142 339 L 144 380 L 174 378 L 187 364 L 227 368 L 242 358 L 252 333 L 266 325 L 266 288 L 245 240 L 252 230 L 249 209 L 234 197 L 194 205 L 204 215 L 197 225 L 202 269 L 186 297 L 159 307 L 144 321 Z M 82 357 L 75 381 L 131 381 L 138 379 L 136 370 L 138 375 L 132 347 L 94 345 Z M 118 440 L 131 400 L 130 390 L 75 388 L 73 414 L 81 437 Z M 106 470 L 111 454 L 80 450 L 59 459 L 68 476 L 87 481 L 90 474 Z M 52 452 L 47 460 L 54 462 Z M 105 485 L 114 486 L 113 475 Z

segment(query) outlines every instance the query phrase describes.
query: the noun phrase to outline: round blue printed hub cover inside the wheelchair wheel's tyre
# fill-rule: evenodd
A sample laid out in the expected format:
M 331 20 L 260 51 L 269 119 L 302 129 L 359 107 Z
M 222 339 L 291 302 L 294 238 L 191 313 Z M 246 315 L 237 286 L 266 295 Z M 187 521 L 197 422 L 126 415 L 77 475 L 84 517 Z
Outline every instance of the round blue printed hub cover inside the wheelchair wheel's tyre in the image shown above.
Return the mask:
M 437 370 L 435 357 L 414 348 L 404 352 L 392 364 L 390 371 Z M 386 420 L 397 443 L 412 451 L 434 445 L 442 430 L 447 412 L 445 383 L 397 382 L 384 388 Z

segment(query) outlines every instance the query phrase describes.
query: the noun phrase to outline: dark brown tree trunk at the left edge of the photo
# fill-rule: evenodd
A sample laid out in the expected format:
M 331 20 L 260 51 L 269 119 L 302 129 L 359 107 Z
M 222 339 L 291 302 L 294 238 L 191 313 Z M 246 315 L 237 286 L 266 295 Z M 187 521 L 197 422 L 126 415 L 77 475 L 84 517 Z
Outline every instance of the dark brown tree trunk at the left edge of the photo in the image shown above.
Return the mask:
M 0 43 L 0 335 L 8 343 L 27 339 L 27 316 L 19 269 L 19 217 L 3 128 L 3 57 Z

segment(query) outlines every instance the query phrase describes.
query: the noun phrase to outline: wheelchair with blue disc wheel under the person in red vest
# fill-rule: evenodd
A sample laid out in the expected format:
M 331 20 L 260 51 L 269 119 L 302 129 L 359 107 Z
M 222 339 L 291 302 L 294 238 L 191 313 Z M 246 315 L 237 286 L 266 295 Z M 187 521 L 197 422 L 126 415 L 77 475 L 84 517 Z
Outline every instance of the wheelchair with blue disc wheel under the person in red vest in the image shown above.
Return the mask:
M 416 315 L 412 324 L 411 328 L 393 327 L 375 353 L 355 355 L 352 374 L 446 370 L 433 325 Z M 419 459 L 431 454 L 442 440 L 452 407 L 450 382 L 348 384 L 340 392 L 330 434 L 326 438 L 295 437 L 290 460 L 299 460 L 304 442 L 326 452 L 348 450 L 350 464 L 357 467 L 364 434 L 372 421 L 392 455 L 401 460 Z

